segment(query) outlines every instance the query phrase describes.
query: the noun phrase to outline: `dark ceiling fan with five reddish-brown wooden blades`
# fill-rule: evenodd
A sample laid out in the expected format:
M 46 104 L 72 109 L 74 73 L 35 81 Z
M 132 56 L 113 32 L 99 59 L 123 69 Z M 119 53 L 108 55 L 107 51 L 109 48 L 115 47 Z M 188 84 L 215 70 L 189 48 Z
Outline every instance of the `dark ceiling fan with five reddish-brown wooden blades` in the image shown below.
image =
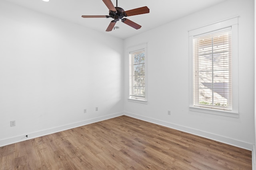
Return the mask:
M 117 0 L 116 0 L 116 7 L 114 7 L 111 0 L 102 0 L 102 1 L 109 9 L 109 16 L 82 16 L 82 18 L 113 18 L 114 20 L 110 22 L 106 31 L 112 31 L 112 29 L 116 25 L 116 22 L 119 20 L 122 20 L 123 23 L 126 23 L 127 25 L 135 29 L 140 29 L 141 25 L 138 25 L 137 23 L 131 20 L 128 20 L 127 18 L 124 18 L 124 17 L 149 13 L 149 9 L 146 6 L 141 8 L 136 8 L 133 10 L 124 11 L 124 9 L 117 7 Z

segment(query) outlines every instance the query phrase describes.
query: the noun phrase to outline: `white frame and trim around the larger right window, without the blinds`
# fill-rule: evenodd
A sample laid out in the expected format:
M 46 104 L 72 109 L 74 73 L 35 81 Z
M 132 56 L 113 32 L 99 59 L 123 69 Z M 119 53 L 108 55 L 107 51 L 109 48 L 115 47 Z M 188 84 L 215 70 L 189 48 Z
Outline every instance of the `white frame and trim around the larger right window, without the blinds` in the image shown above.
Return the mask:
M 193 39 L 194 37 L 220 29 L 231 27 L 232 34 L 232 109 L 220 110 L 206 107 L 194 106 L 193 102 Z M 222 20 L 216 23 L 205 25 L 189 32 L 189 107 L 190 111 L 239 117 L 238 112 L 238 17 Z

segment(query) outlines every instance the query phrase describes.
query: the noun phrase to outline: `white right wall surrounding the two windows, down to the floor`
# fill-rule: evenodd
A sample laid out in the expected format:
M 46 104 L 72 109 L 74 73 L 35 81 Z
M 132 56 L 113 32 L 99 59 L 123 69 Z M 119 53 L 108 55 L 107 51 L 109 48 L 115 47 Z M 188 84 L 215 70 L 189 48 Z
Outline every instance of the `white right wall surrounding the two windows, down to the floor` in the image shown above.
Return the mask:
M 128 102 L 128 54 L 124 53 L 127 115 L 231 145 L 254 144 L 254 4 L 228 0 L 146 33 L 128 38 L 124 48 L 148 43 L 148 104 Z M 239 17 L 239 118 L 189 111 L 188 30 Z M 167 114 L 171 111 L 171 115 Z

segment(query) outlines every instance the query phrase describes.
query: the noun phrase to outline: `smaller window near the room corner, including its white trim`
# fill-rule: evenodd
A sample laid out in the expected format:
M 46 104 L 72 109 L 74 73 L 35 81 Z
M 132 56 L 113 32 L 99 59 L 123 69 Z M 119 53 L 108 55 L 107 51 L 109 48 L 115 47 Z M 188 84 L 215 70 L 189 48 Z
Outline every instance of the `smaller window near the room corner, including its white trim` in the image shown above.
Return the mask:
M 144 45 L 142 49 L 129 52 L 129 99 L 131 100 L 146 101 L 145 58 L 146 47 Z

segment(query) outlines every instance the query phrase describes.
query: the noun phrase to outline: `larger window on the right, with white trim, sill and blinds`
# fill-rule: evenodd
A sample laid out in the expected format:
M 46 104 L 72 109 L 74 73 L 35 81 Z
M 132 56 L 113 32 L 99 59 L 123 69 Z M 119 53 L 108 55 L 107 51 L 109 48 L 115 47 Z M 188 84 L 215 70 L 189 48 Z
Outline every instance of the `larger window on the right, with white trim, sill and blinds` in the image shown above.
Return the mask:
M 190 33 L 190 110 L 238 117 L 237 18 Z

